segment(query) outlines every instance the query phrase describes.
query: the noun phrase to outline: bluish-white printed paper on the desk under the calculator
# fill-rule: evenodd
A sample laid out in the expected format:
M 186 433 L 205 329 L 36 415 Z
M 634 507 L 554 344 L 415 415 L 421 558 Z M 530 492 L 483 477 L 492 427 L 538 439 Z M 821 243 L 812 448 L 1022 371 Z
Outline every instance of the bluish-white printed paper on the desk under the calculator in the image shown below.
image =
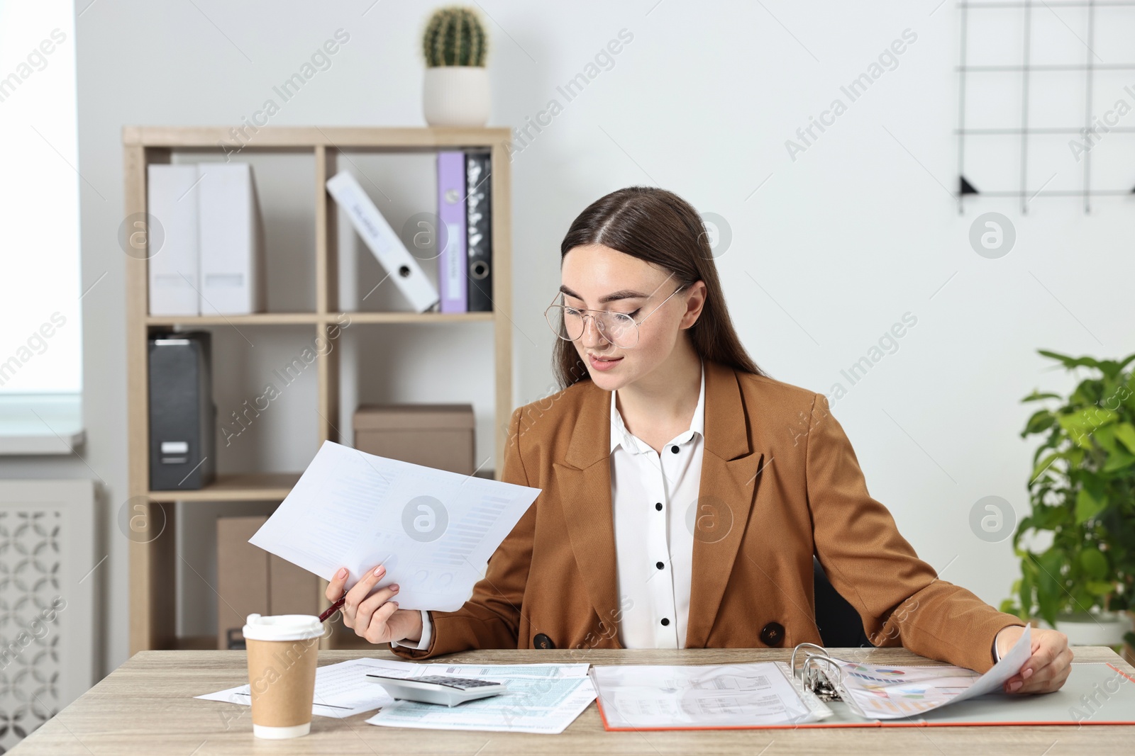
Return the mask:
M 507 693 L 457 706 L 396 700 L 370 724 L 427 730 L 563 732 L 595 700 L 587 664 L 413 664 L 379 662 L 384 674 L 447 674 L 504 682 Z M 376 683 L 377 685 L 377 683 Z

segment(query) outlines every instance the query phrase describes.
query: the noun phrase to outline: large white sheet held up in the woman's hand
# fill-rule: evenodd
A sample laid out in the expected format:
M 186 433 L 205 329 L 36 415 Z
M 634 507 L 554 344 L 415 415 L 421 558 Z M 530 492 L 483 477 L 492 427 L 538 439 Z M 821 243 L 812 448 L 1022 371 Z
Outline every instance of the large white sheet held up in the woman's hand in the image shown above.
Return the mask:
M 384 564 L 400 609 L 455 611 L 539 493 L 325 441 L 249 543 L 348 589 Z

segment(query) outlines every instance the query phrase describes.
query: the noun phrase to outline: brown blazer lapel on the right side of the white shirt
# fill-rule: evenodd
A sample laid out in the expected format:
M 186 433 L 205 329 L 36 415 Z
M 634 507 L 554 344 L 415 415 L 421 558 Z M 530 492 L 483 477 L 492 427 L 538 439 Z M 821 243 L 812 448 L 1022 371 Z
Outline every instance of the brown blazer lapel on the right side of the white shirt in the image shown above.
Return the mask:
M 754 455 L 741 388 L 731 367 L 706 360 L 705 440 L 693 520 L 686 647 L 705 647 L 749 524 L 764 455 Z

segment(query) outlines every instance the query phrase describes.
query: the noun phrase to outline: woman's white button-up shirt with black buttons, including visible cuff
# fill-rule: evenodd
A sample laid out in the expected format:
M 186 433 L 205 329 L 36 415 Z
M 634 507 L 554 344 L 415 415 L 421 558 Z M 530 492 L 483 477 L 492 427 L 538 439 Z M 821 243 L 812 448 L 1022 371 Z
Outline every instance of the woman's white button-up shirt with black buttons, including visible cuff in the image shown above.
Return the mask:
M 619 643 L 624 648 L 684 648 L 693 567 L 693 520 L 701 484 L 706 373 L 690 427 L 651 449 L 623 424 L 611 392 L 611 502 L 615 526 Z M 432 626 L 422 611 L 418 643 L 429 648 Z

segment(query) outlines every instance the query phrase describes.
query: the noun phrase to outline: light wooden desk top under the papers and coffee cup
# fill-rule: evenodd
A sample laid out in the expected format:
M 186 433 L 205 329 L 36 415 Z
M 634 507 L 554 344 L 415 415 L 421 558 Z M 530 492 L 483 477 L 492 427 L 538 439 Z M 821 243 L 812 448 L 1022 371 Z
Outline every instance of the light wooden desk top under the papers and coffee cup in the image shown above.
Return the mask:
M 788 661 L 791 649 L 688 651 L 479 651 L 445 657 L 454 662 L 572 662 L 592 664 L 722 664 Z M 838 648 L 833 655 L 882 664 L 927 663 L 903 648 Z M 371 656 L 396 660 L 385 647 L 321 651 L 319 663 Z M 574 656 L 574 657 L 573 657 Z M 1135 668 L 1104 647 L 1076 649 L 1076 660 Z M 245 657 L 236 651 L 143 651 L 119 666 L 10 751 L 16 756 L 125 754 L 967 754 L 985 756 L 1092 756 L 1132 753 L 1135 728 L 1113 725 L 829 728 L 801 730 L 706 730 L 700 732 L 606 732 L 591 704 L 562 734 L 456 732 L 379 728 L 371 714 L 313 717 L 311 734 L 296 740 L 258 740 L 247 706 L 193 696 L 247 682 Z

